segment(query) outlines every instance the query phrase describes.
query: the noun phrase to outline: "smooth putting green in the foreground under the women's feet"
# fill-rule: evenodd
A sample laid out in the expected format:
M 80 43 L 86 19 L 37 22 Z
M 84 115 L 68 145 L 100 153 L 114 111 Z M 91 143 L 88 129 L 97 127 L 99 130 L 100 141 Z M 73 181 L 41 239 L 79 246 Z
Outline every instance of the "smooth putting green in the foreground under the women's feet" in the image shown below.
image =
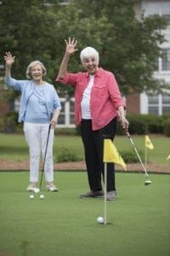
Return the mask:
M 12 256 L 169 256 L 170 175 L 116 173 L 118 199 L 79 199 L 86 172 L 54 172 L 59 192 L 30 200 L 29 172 L 0 172 L 0 252 Z

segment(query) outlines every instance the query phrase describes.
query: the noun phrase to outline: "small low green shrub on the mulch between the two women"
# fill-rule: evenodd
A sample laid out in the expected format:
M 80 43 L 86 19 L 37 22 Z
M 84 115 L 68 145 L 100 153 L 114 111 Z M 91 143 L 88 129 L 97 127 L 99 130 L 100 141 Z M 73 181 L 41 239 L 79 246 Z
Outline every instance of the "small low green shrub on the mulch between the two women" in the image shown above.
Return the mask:
M 68 148 L 62 148 L 58 154 L 58 156 L 56 157 L 56 162 L 61 163 L 61 162 L 76 162 L 79 161 L 81 159 L 79 159 L 77 157 L 77 154 L 72 152 L 70 149 Z

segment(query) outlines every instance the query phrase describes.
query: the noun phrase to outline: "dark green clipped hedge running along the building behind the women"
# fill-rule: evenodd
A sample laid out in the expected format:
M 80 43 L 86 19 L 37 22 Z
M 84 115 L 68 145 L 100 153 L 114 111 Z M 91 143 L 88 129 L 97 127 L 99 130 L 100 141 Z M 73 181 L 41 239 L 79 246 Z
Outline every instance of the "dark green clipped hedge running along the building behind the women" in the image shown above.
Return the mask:
M 18 113 L 16 111 L 9 112 L 3 118 L 0 118 L 0 132 L 14 133 L 22 132 L 22 125 L 17 122 Z M 170 137 L 170 115 L 150 115 L 135 114 L 128 115 L 127 119 L 130 123 L 130 134 L 144 135 L 147 133 L 160 133 Z M 80 127 L 76 128 L 57 128 L 56 134 L 63 135 L 80 135 Z M 117 135 L 124 135 L 124 131 L 119 122 L 116 127 Z

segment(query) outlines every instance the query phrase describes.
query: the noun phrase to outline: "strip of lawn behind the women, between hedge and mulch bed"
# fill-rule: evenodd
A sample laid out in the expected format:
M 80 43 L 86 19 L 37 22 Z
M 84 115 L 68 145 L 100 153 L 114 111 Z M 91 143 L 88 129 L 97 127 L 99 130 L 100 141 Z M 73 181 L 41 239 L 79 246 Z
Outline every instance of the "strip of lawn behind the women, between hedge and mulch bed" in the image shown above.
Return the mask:
M 144 136 L 132 136 L 133 143 L 138 150 L 144 152 Z M 154 149 L 147 150 L 148 160 L 156 164 L 166 164 L 167 156 L 170 154 L 170 137 L 150 135 Z M 116 136 L 115 145 L 117 150 L 132 151 L 133 147 L 126 136 Z M 54 139 L 54 160 L 63 149 L 69 149 L 83 159 L 83 148 L 81 137 L 78 136 L 55 136 Z M 24 135 L 0 134 L 0 159 L 2 160 L 29 160 L 28 147 Z

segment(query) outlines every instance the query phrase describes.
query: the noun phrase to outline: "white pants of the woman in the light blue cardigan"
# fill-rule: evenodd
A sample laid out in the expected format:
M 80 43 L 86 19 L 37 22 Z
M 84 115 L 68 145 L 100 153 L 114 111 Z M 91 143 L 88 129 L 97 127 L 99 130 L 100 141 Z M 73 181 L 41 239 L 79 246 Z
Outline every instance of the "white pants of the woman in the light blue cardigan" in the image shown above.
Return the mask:
M 50 129 L 48 137 L 49 124 L 33 124 L 24 123 L 24 133 L 26 142 L 30 152 L 30 182 L 37 183 L 39 176 L 39 164 L 42 154 L 46 150 L 47 140 L 48 148 L 45 157 L 44 173 L 46 182 L 54 181 L 54 163 L 53 163 L 53 144 L 54 144 L 54 129 Z

